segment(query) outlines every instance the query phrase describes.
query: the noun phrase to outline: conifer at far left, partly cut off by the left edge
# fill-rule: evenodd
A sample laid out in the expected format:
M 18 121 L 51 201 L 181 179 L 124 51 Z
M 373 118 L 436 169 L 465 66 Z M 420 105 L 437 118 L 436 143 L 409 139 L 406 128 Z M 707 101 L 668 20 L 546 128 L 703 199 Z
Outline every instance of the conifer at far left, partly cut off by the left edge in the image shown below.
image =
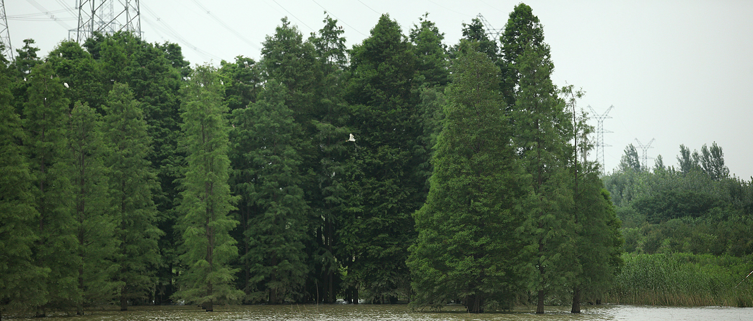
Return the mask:
M 2 47 L 2 44 L 0 44 Z M 2 56 L 0 56 L 2 57 Z M 24 132 L 11 104 L 11 70 L 0 58 L 0 313 L 28 310 L 44 303 L 34 289 L 49 269 L 35 265 L 32 248 L 38 239 L 39 213 L 32 194 L 29 160 L 21 149 Z

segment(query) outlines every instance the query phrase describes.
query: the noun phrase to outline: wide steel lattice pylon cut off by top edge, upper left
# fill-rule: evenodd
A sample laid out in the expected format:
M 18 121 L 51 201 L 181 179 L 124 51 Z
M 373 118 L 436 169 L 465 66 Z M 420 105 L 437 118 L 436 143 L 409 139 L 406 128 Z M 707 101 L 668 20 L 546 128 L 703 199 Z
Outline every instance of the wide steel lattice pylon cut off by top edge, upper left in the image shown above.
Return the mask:
M 141 35 L 139 0 L 77 0 L 76 41 L 86 41 L 94 32 L 125 31 Z

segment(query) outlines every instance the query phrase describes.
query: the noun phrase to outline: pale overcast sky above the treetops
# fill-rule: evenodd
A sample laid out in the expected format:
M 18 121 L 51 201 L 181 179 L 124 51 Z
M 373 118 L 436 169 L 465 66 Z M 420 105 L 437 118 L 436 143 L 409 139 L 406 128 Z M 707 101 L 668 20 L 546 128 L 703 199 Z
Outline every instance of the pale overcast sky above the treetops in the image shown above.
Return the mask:
M 132 0 L 133 1 L 133 0 Z M 77 26 L 76 0 L 5 2 L 11 43 L 33 38 L 46 55 Z M 175 42 L 192 64 L 235 56 L 258 59 L 261 43 L 288 17 L 304 35 L 322 28 L 326 10 L 348 47 L 389 13 L 407 33 L 428 12 L 456 44 L 461 23 L 478 14 L 504 28 L 519 1 L 458 0 L 142 0 L 143 37 Z M 604 121 L 607 171 L 627 144 L 655 139 L 648 164 L 677 165 L 679 145 L 716 142 L 732 174 L 753 176 L 753 1 L 526 1 L 544 25 L 554 82 L 582 87 L 580 101 Z M 116 6 L 117 7 L 117 6 Z M 207 12 L 208 11 L 208 12 Z M 50 16 L 54 17 L 50 18 Z M 596 125 L 595 122 L 593 122 Z M 642 151 L 639 149 L 639 154 Z M 593 156 L 592 156 L 593 159 Z

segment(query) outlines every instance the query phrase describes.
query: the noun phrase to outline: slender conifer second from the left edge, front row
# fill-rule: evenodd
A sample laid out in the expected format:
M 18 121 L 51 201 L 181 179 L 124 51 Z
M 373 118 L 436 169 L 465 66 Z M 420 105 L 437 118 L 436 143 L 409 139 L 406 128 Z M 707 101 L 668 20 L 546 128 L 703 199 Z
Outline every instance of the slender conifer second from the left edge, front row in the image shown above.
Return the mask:
M 69 172 L 64 159 L 66 121 L 69 101 L 59 79 L 53 77 L 48 63 L 36 65 L 29 78 L 29 101 L 23 109 L 23 144 L 32 172 L 34 207 L 39 213 L 35 223 L 35 244 L 32 249 L 35 265 L 49 273 L 35 279 L 26 291 L 37 316 L 55 307 L 73 307 L 80 301 L 77 278 L 80 260 L 76 255 L 78 241 L 72 215 L 73 203 Z

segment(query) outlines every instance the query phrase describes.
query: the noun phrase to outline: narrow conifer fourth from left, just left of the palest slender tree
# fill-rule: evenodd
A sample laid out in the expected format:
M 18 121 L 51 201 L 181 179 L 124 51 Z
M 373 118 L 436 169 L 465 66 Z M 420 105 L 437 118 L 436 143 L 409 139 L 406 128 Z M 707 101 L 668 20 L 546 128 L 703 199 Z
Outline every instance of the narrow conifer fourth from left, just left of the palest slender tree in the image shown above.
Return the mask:
M 114 279 L 120 282 L 120 310 L 128 301 L 146 298 L 154 286 L 154 268 L 160 263 L 157 209 L 153 195 L 159 189 L 157 174 L 146 159 L 151 138 L 138 101 L 127 84 L 114 83 L 105 111 L 103 132 L 110 153 L 110 207 L 120 223 L 114 237 L 120 242 Z M 133 301 L 132 301 L 133 302 Z

